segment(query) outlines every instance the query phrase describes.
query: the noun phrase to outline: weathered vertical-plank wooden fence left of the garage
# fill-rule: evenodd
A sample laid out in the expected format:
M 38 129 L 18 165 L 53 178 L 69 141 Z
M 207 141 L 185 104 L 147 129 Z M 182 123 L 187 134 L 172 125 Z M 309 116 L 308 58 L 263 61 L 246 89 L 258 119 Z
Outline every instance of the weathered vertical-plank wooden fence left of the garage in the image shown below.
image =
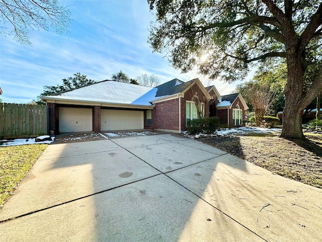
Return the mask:
M 47 106 L 0 103 L 0 138 L 46 135 Z

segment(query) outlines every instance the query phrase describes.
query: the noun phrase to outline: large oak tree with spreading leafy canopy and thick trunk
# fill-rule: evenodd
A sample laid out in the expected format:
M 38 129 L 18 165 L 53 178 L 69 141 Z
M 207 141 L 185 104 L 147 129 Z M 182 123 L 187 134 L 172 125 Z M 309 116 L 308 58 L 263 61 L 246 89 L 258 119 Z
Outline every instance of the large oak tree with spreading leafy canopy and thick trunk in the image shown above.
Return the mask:
M 303 109 L 322 92 L 322 3 L 318 0 L 148 0 L 156 10 L 149 43 L 183 72 L 198 66 L 211 78 L 244 78 L 249 68 L 285 58 L 287 84 L 281 136 L 303 138 Z M 202 56 L 207 56 L 203 61 Z

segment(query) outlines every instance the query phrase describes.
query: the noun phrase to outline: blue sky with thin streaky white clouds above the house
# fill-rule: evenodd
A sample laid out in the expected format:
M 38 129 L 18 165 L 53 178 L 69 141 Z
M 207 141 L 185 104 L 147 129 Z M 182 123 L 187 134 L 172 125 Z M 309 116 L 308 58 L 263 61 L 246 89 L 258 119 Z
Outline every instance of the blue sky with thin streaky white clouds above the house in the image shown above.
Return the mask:
M 150 21 L 154 20 L 146 0 L 62 1 L 71 12 L 69 32 L 32 31 L 32 46 L 22 45 L 12 36 L 0 36 L 0 86 L 3 102 L 28 103 L 43 86 L 62 83 L 74 73 L 102 81 L 120 70 L 130 78 L 154 74 L 162 83 L 178 78 L 188 81 L 196 73 L 181 74 L 164 54 L 152 53 L 147 43 Z M 200 78 L 205 80 L 205 78 Z M 220 81 L 221 95 L 229 94 L 237 83 Z

